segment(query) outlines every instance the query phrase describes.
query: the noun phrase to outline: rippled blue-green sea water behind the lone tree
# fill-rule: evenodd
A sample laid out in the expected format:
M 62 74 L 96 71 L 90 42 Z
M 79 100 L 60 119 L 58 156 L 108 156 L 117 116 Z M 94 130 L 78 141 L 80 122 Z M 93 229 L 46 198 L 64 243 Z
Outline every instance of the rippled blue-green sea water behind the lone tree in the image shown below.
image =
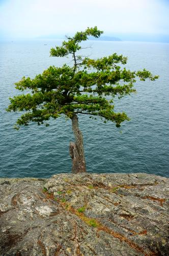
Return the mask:
M 0 177 L 50 177 L 71 172 L 70 120 L 51 120 L 50 126 L 31 124 L 13 130 L 19 113 L 7 113 L 9 97 L 20 94 L 14 83 L 34 77 L 50 65 L 72 65 L 71 59 L 49 57 L 57 40 L 0 41 Z M 137 94 L 116 99 L 116 110 L 131 121 L 120 129 L 111 122 L 79 115 L 89 173 L 148 173 L 169 176 L 169 44 L 128 41 L 88 41 L 86 55 L 98 58 L 114 52 L 128 56 L 126 68 L 146 68 L 160 75 L 137 82 Z

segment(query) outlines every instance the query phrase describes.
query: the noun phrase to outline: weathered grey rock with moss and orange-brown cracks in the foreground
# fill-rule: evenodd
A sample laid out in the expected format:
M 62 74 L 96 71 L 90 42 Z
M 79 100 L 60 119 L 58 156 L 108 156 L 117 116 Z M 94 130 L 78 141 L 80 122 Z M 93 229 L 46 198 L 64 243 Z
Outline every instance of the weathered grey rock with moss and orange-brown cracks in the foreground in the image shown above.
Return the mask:
M 0 179 L 0 255 L 168 255 L 169 179 Z

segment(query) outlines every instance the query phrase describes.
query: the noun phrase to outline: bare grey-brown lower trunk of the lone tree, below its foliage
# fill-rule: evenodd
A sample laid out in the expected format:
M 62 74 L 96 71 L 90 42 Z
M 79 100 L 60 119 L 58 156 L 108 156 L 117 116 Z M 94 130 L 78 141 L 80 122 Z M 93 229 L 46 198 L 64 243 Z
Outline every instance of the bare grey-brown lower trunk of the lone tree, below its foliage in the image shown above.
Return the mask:
M 75 142 L 70 142 L 69 152 L 72 158 L 72 173 L 86 172 L 85 153 L 83 148 L 83 136 L 78 128 L 78 118 L 76 114 L 73 114 L 72 130 L 75 137 Z

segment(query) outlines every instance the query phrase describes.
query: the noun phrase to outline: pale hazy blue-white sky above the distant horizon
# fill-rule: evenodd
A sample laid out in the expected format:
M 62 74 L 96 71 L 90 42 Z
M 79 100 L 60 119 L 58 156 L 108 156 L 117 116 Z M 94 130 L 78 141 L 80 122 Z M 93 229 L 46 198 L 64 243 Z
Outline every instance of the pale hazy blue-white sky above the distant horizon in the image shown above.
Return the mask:
M 0 0 L 0 36 L 32 38 L 97 26 L 105 34 L 169 34 L 169 0 Z

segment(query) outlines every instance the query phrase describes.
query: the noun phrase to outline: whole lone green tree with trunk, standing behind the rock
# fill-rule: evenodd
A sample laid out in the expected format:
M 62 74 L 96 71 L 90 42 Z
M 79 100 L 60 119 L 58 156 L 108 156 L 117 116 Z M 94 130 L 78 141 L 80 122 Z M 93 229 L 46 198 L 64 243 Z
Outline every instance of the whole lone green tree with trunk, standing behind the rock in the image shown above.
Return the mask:
M 50 118 L 57 119 L 61 115 L 70 118 L 75 136 L 75 142 L 70 142 L 73 173 L 86 172 L 83 138 L 78 128 L 77 115 L 100 117 L 104 122 L 112 121 L 120 127 L 129 118 L 124 112 L 114 112 L 113 99 L 135 92 L 133 86 L 137 78 L 142 81 L 146 78 L 152 81 L 158 78 L 145 69 L 137 72 L 122 69 L 121 66 L 127 63 L 127 57 L 117 53 L 98 59 L 78 55 L 77 52 L 82 49 L 82 41 L 86 41 L 88 36 L 98 38 L 102 33 L 97 27 L 88 28 L 84 32 L 77 32 L 73 37 L 67 37 L 62 46 L 51 48 L 51 56 L 71 55 L 74 65 L 49 67 L 34 79 L 23 77 L 15 83 L 16 89 L 30 90 L 30 93 L 10 98 L 11 104 L 7 109 L 9 112 L 24 112 L 16 122 L 17 130 L 20 125 L 29 125 L 31 121 L 48 126 L 45 121 Z

